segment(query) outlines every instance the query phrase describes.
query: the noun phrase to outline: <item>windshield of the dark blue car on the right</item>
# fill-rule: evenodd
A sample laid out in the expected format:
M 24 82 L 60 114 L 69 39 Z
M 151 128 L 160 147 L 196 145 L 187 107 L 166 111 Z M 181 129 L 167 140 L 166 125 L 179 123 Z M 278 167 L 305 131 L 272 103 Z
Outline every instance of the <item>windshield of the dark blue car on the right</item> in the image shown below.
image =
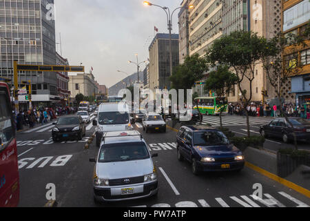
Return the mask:
M 220 131 L 194 133 L 194 145 L 214 146 L 220 144 L 229 144 L 227 137 Z

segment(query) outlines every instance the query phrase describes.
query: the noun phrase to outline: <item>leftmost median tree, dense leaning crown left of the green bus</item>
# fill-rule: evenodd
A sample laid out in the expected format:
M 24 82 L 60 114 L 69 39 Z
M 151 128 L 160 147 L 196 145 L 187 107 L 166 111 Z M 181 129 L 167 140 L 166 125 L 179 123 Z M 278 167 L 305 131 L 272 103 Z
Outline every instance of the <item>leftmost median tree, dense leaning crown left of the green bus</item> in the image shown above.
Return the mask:
M 198 54 L 185 57 L 183 64 L 174 67 L 172 76 L 169 80 L 172 83 L 172 88 L 178 89 L 192 89 L 196 81 L 203 79 L 203 76 L 209 70 L 207 62 L 204 57 L 200 57 Z M 198 106 L 196 104 L 196 106 Z M 203 117 L 198 109 L 200 115 L 200 122 Z

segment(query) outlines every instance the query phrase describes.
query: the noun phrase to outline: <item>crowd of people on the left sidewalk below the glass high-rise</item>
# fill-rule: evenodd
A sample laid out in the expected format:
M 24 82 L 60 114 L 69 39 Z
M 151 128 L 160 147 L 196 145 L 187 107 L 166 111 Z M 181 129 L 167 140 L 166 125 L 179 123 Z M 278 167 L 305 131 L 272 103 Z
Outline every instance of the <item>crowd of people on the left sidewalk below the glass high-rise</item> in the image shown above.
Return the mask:
M 70 115 L 75 111 L 74 108 L 68 106 L 58 106 L 56 108 L 39 108 L 34 106 L 34 108 L 28 111 L 20 110 L 15 117 L 17 131 L 22 130 L 24 126 L 29 128 L 33 128 L 36 124 L 41 124 L 43 126 L 48 122 L 52 122 L 57 116 Z

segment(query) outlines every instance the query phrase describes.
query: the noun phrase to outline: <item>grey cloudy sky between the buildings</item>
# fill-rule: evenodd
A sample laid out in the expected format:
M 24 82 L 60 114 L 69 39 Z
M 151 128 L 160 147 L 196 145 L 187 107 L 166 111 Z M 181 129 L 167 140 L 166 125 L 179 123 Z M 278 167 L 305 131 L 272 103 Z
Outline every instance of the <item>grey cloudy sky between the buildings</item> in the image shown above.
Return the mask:
M 174 10 L 181 0 L 152 0 Z M 167 31 L 167 16 L 155 6 L 144 6 L 143 0 L 55 0 L 56 41 L 61 33 L 62 54 L 70 65 L 83 63 L 85 71 L 94 68 L 99 84 L 113 86 L 136 72 L 127 61 L 145 61 L 148 46 L 158 32 Z M 173 32 L 178 33 L 178 11 L 173 16 Z M 59 45 L 56 46 L 60 52 Z M 144 69 L 145 65 L 141 67 Z

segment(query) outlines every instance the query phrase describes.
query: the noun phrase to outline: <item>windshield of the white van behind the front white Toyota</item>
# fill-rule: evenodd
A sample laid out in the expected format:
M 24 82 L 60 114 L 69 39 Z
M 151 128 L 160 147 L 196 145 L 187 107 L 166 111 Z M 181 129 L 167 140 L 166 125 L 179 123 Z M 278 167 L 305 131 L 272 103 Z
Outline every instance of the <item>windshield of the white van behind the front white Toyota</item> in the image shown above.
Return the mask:
M 99 113 L 99 124 L 128 124 L 130 122 L 128 113 L 115 112 L 101 112 Z

